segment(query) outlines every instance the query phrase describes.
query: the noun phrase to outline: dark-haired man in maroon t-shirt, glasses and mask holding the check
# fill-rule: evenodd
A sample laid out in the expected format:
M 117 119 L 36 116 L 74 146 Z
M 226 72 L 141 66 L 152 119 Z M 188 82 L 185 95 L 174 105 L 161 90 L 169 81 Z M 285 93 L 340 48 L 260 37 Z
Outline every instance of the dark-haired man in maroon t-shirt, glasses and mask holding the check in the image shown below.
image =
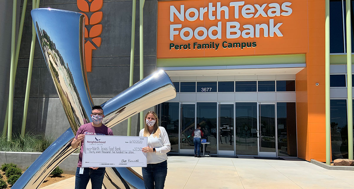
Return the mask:
M 91 135 L 113 135 L 112 129 L 102 124 L 104 114 L 101 106 L 92 107 L 92 122 L 83 124 L 79 127 L 74 140 L 71 143 L 72 148 L 78 148 L 80 145 L 80 154 L 78 167 L 75 174 L 75 189 L 86 189 L 87 183 L 91 179 L 92 189 L 102 189 L 102 182 L 105 173 L 105 167 L 81 167 L 82 152 L 84 150 L 85 134 Z

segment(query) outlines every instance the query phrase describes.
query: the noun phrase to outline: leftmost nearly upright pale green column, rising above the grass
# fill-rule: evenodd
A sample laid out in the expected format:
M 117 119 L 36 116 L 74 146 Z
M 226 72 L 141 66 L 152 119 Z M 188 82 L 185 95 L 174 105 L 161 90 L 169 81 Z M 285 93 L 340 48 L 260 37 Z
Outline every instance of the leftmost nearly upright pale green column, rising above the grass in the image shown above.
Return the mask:
M 12 136 L 12 115 L 13 115 L 13 80 L 15 70 L 15 37 L 16 37 L 16 7 L 17 0 L 12 1 L 12 32 L 11 32 L 11 67 L 10 67 L 10 87 L 8 93 L 8 122 L 7 141 L 11 141 Z

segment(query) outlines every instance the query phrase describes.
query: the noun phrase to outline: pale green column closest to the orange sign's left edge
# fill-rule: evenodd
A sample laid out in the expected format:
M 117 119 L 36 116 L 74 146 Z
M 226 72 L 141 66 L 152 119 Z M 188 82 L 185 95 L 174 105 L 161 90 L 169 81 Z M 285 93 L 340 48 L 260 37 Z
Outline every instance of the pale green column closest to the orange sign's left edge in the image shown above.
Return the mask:
M 139 6 L 139 22 L 140 22 L 140 27 L 139 27 L 139 43 L 140 43 L 140 55 L 139 55 L 139 62 L 140 62 L 140 80 L 144 78 L 144 41 L 143 41 L 143 8 L 144 8 L 144 3 L 145 0 L 141 0 Z M 145 126 L 144 124 L 144 111 L 140 112 L 140 129 L 143 129 Z

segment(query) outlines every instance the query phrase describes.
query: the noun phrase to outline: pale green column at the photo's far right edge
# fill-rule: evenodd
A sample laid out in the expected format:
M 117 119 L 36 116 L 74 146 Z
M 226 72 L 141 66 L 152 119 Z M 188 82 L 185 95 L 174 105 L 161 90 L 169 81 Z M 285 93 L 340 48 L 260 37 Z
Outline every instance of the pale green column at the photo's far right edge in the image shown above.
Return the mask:
M 346 1 L 347 9 L 347 91 L 348 91 L 348 156 L 353 160 L 353 95 L 352 95 L 352 32 L 350 22 L 350 1 Z

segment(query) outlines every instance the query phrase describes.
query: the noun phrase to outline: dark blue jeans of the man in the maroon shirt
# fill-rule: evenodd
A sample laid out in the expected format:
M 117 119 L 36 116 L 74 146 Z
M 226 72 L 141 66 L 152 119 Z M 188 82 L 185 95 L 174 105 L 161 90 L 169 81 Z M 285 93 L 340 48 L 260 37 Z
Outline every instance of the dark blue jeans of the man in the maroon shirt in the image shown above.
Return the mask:
M 105 167 L 98 169 L 84 168 L 84 174 L 80 173 L 80 167 L 76 168 L 75 174 L 75 189 L 86 189 L 87 183 L 91 179 L 92 189 L 102 189 L 102 182 L 105 173 Z

